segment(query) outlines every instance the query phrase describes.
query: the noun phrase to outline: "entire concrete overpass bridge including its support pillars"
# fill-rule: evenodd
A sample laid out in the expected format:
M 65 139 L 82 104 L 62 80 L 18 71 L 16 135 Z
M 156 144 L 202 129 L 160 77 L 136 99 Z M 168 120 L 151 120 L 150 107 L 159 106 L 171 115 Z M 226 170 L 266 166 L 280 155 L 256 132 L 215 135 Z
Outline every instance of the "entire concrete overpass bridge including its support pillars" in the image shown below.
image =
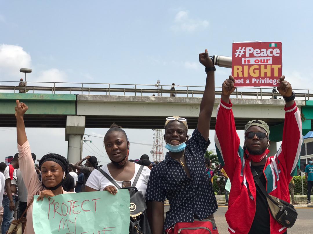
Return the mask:
M 3 86 L 0 86 L 0 90 L 1 88 Z M 16 87 L 14 89 L 17 90 Z M 29 89 L 35 91 L 33 87 Z M 97 89 L 100 89 L 99 92 L 104 92 L 101 88 Z M 26 127 L 63 127 L 66 129 L 65 139 L 69 141 L 68 157 L 71 162 L 80 159 L 80 142 L 85 128 L 108 128 L 115 122 L 124 128 L 162 129 L 165 118 L 172 115 L 185 117 L 190 129 L 194 129 L 198 122 L 201 97 L 196 97 L 195 90 L 191 95 L 190 89 L 189 95 L 188 91 L 180 90 L 179 94 L 185 94 L 185 97 L 163 96 L 163 94 L 170 93 L 170 90 L 162 90 L 162 96 L 144 96 L 147 90 L 143 92 L 137 88 L 136 92 L 141 95 L 135 92 L 136 95 L 126 96 L 127 92 L 123 89 L 119 92 L 110 90 L 110 95 L 55 94 L 55 90 L 52 87 L 51 94 L 0 93 L 0 127 L 15 127 L 15 100 L 25 102 L 30 108 L 25 115 Z M 124 92 L 124 95 L 116 95 L 121 92 Z M 197 92 L 201 95 L 201 90 Z M 217 98 L 210 129 L 215 127 L 219 95 L 220 92 L 216 91 Z M 255 90 L 234 92 L 231 98 L 236 128 L 243 130 L 249 120 L 262 119 L 270 126 L 270 140 L 281 141 L 285 102 L 279 99 L 269 99 L 272 95 L 270 92 L 262 93 L 262 90 L 261 92 L 255 92 Z M 303 97 L 300 96 L 300 98 L 304 100 L 296 100 L 296 102 L 306 118 L 302 123 L 303 134 L 306 134 L 312 129 L 313 101 L 305 100 L 311 97 L 310 92 L 302 95 Z M 276 144 L 272 144 L 274 145 Z

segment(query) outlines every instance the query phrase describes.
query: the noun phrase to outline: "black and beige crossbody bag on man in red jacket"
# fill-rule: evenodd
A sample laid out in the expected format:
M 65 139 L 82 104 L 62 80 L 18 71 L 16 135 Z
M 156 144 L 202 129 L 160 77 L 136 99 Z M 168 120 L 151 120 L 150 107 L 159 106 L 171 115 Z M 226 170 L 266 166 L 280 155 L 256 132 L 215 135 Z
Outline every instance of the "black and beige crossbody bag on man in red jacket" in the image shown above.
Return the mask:
M 278 197 L 274 197 L 269 195 L 265 190 L 263 184 L 259 179 L 258 173 L 251 168 L 251 172 L 254 178 L 254 181 L 258 184 L 262 193 L 267 199 L 267 203 L 269 204 L 269 210 L 271 211 L 273 217 L 277 222 L 279 222 L 284 227 L 292 227 L 297 220 L 298 213 L 295 210 L 295 207 L 284 200 L 279 199 Z

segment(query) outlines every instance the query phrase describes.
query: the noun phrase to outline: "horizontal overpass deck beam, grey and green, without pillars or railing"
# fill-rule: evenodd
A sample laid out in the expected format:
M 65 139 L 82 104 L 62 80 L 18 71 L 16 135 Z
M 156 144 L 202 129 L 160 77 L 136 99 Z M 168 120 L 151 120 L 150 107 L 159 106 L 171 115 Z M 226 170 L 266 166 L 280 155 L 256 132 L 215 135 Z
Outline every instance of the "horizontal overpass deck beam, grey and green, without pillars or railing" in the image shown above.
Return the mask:
M 15 100 L 27 103 L 30 110 L 25 115 L 27 127 L 66 127 L 70 115 L 85 116 L 86 128 L 108 128 L 112 122 L 124 128 L 163 128 L 164 119 L 180 115 L 188 119 L 191 129 L 197 126 L 201 98 L 120 96 L 120 95 L 74 95 L 74 94 L 24 94 L 0 93 L 0 127 L 15 127 Z M 215 99 L 211 129 L 215 127 Z M 251 119 L 262 119 L 269 126 L 284 122 L 284 100 L 234 98 L 233 113 L 238 130 Z M 299 107 L 305 100 L 297 100 Z M 309 124 L 310 125 L 310 124 Z

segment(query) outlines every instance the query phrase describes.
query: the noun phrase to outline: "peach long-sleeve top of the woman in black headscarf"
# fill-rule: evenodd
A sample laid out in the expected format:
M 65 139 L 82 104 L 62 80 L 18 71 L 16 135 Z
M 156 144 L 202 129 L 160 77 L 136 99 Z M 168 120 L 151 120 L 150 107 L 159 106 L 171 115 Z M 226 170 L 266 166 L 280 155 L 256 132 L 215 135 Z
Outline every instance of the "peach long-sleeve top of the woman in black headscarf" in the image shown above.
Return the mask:
M 29 202 L 33 200 L 33 196 L 36 195 L 38 191 L 46 190 L 46 188 L 42 186 L 42 182 L 37 177 L 28 141 L 26 141 L 22 146 L 18 144 L 18 153 L 18 163 L 27 188 L 27 204 L 29 204 Z M 62 193 L 68 192 L 64 191 L 62 188 Z M 29 206 L 26 217 L 27 222 L 24 233 L 35 234 L 33 228 L 33 204 Z

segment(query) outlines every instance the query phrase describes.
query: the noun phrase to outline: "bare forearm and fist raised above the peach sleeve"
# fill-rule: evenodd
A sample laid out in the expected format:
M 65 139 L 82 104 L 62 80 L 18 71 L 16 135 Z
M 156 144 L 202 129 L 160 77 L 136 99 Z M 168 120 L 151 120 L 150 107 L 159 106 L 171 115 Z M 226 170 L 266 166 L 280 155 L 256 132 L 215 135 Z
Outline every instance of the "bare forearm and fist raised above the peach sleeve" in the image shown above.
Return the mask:
M 27 141 L 27 136 L 25 132 L 24 124 L 24 114 L 28 110 L 28 106 L 25 103 L 20 103 L 19 100 L 16 100 L 15 107 L 15 117 L 16 117 L 16 135 L 18 139 L 18 144 L 23 145 Z

